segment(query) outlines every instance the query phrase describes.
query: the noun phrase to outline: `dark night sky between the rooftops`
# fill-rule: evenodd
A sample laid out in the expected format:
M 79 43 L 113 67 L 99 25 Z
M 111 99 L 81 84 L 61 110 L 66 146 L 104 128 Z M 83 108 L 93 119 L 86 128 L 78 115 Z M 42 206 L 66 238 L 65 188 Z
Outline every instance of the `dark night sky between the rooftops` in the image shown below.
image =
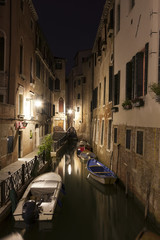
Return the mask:
M 77 51 L 93 47 L 105 0 L 33 0 L 33 4 L 53 55 L 67 59 L 68 72 Z

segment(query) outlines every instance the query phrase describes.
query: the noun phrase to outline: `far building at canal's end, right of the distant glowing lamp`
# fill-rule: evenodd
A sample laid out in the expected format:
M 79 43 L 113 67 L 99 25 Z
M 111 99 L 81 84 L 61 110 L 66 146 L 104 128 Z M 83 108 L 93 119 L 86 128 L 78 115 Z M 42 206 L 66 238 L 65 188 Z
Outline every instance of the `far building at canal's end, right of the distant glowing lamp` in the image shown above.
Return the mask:
M 69 89 L 68 95 L 71 94 L 71 96 L 69 97 L 67 109 L 68 125 L 76 129 L 80 139 L 86 139 L 90 142 L 92 100 L 91 50 L 79 51 L 75 55 L 74 67 L 69 77 Z

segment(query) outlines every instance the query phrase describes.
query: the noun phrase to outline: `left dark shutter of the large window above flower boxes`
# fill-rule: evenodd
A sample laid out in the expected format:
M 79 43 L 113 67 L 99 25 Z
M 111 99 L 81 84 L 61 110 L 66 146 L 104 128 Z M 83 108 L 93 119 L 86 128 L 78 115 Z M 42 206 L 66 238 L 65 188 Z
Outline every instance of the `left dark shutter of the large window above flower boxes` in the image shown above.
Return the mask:
M 126 64 L 126 99 L 132 99 L 132 62 Z

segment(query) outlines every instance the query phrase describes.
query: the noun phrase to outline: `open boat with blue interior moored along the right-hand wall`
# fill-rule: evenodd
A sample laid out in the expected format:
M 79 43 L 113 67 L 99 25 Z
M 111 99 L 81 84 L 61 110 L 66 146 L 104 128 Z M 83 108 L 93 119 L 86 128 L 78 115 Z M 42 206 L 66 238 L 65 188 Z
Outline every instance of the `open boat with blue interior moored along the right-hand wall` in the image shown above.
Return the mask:
M 104 164 L 96 159 L 89 159 L 87 162 L 87 169 L 91 176 L 102 184 L 113 184 L 117 177 Z

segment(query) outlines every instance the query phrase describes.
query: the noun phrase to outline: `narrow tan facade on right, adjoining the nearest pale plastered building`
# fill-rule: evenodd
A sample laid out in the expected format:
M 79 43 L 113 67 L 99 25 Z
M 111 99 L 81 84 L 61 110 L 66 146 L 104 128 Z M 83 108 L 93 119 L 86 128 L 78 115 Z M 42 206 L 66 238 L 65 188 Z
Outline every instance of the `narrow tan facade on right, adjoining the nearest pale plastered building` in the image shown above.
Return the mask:
M 93 54 L 92 146 L 98 158 L 112 164 L 113 1 L 106 1 Z

